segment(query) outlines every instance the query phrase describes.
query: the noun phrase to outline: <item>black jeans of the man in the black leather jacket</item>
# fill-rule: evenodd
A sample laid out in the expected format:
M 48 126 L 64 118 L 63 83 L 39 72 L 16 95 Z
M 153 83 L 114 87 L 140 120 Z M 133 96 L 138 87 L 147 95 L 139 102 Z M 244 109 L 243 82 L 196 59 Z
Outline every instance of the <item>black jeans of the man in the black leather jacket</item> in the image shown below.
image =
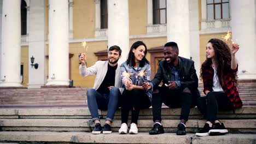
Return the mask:
M 188 121 L 190 108 L 193 106 L 193 95 L 190 89 L 184 88 L 183 90 L 171 90 L 165 86 L 157 88 L 160 93 L 153 93 L 152 97 L 152 110 L 153 121 L 161 121 L 162 103 L 171 108 L 181 107 L 181 116 L 179 119 Z M 185 91 L 187 89 L 187 91 Z

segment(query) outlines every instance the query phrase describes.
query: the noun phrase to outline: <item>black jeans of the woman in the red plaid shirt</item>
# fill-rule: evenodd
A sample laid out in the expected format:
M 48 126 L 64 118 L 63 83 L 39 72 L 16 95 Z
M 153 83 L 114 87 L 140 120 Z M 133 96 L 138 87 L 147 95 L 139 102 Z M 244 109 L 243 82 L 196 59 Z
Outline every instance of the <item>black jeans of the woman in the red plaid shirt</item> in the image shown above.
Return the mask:
M 214 122 L 219 110 L 234 110 L 234 106 L 224 92 L 208 92 L 197 99 L 197 108 L 207 121 Z

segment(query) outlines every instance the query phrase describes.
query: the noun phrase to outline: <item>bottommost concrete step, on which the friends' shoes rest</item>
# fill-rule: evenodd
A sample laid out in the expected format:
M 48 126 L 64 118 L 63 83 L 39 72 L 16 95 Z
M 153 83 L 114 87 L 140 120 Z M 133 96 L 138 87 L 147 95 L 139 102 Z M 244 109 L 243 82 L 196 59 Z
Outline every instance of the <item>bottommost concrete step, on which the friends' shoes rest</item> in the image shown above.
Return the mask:
M 119 135 L 112 133 L 109 135 L 92 135 L 91 133 L 80 132 L 28 132 L 28 131 L 1 131 L 0 142 L 12 143 L 247 143 L 256 142 L 256 135 L 253 134 L 226 134 L 223 136 L 197 137 L 194 134 L 177 136 L 174 133 L 160 135 L 149 135 L 139 133 L 137 135 Z

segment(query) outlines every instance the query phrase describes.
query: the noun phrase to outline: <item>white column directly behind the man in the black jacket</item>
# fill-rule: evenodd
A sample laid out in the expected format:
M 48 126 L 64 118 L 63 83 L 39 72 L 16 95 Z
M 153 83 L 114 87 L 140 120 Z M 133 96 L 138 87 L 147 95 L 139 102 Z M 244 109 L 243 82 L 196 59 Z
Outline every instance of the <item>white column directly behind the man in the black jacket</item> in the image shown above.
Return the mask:
M 189 42 L 189 0 L 168 0 L 167 41 L 174 41 L 179 47 L 179 56 L 190 58 Z

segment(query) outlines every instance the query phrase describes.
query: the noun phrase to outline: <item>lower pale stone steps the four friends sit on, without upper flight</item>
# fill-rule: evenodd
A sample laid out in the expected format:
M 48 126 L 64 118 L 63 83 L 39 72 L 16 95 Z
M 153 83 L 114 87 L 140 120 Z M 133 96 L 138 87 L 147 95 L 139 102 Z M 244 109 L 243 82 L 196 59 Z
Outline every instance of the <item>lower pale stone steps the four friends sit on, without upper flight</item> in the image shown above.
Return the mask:
M 107 111 L 98 111 L 102 119 Z M 197 137 L 195 131 L 203 127 L 205 120 L 200 112 L 190 111 L 185 136 L 177 136 L 177 124 L 181 109 L 162 109 L 165 134 L 149 135 L 153 126 L 152 109 L 142 110 L 138 121 L 138 135 L 119 135 L 120 110 L 112 123 L 113 134 L 92 135 L 87 107 L 62 109 L 0 109 L 0 143 L 256 143 L 256 106 L 244 106 L 232 111 L 222 111 L 218 117 L 225 123 L 229 134 L 224 136 Z

